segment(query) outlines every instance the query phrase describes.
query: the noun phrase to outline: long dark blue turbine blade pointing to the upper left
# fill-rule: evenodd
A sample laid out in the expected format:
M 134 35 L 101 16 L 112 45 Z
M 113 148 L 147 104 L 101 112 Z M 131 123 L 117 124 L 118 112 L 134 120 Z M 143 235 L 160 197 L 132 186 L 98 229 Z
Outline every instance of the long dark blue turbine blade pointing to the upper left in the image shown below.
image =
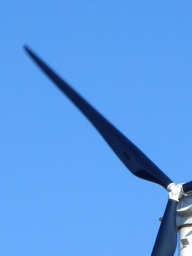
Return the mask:
M 167 185 L 173 182 L 129 139 L 121 134 L 108 120 L 97 112 L 93 106 L 75 92 L 69 84 L 51 70 L 45 62 L 37 57 L 28 47 L 24 48 L 57 87 L 65 93 L 77 108 L 90 120 L 115 154 L 134 175 L 145 180 L 156 182 L 164 188 L 167 188 Z

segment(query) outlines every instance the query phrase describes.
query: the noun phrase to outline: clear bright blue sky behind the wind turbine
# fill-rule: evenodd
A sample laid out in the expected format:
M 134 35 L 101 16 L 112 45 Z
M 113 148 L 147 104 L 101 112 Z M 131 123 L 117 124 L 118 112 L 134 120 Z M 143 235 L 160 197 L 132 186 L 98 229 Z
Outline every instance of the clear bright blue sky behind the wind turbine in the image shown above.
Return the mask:
M 191 8 L 175 0 L 3 1 L 1 255 L 151 254 L 165 189 L 132 175 L 22 47 L 171 179 L 187 182 Z

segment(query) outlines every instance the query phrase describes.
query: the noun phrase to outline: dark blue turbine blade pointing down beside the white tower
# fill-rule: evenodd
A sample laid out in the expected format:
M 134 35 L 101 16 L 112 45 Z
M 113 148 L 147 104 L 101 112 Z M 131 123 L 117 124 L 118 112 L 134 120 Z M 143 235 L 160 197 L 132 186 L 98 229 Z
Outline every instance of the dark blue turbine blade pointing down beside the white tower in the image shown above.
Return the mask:
M 177 247 L 177 214 L 178 202 L 169 199 L 157 234 L 152 256 L 173 256 Z

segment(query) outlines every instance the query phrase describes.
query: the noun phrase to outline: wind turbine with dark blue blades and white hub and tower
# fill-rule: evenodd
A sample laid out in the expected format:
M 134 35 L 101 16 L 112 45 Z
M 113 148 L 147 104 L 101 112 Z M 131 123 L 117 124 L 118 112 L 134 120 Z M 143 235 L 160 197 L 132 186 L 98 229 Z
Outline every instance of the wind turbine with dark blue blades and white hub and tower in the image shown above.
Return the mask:
M 176 185 L 137 146 L 83 99 L 69 84 L 59 77 L 32 50 L 24 46 L 37 66 L 77 106 L 95 126 L 117 157 L 131 173 L 139 178 L 155 182 L 168 191 L 168 202 L 161 218 L 152 256 L 173 256 L 179 233 L 179 255 L 192 255 L 192 181 Z

